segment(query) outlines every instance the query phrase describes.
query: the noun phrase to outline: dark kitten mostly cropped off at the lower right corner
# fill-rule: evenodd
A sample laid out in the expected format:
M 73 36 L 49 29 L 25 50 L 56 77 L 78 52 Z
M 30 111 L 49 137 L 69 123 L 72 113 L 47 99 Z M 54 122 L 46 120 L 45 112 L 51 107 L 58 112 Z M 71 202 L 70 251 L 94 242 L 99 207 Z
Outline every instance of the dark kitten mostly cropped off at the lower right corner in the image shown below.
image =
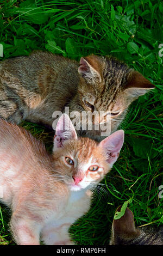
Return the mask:
M 117 211 L 121 210 L 121 206 Z M 130 209 L 112 223 L 110 245 L 163 245 L 163 227 L 135 228 L 134 215 Z

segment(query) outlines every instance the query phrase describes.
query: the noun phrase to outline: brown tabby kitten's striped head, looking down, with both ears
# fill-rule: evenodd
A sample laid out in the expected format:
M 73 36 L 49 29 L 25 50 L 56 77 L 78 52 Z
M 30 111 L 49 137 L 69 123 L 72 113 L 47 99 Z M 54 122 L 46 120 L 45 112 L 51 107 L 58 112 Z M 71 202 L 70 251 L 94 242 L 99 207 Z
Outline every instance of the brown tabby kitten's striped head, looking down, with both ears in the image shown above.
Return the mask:
M 139 72 L 114 57 L 90 55 L 80 59 L 79 111 L 105 113 L 95 124 L 111 121 L 111 131 L 120 125 L 128 106 L 154 85 Z

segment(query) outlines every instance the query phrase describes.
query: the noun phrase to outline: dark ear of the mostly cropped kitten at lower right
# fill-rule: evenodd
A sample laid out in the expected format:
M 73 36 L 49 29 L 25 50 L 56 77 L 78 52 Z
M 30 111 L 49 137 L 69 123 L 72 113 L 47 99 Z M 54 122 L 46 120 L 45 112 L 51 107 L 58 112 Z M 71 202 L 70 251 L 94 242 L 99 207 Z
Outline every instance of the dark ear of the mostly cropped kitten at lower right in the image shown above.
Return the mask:
M 116 211 L 121 211 L 119 206 Z M 127 208 L 125 214 L 112 222 L 112 236 L 114 240 L 118 239 L 134 239 L 139 236 L 139 230 L 135 228 L 134 215 L 133 212 Z

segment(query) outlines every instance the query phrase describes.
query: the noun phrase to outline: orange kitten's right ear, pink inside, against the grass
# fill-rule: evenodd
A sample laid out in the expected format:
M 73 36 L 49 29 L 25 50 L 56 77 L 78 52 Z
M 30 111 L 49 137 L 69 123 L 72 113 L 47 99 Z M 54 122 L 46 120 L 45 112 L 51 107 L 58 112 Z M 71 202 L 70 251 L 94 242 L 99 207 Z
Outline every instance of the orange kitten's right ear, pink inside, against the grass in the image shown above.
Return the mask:
M 108 156 L 107 161 L 111 167 L 117 161 L 123 142 L 124 131 L 118 130 L 112 133 L 107 138 L 103 139 L 101 143 L 99 143 L 99 147 L 102 147 L 106 155 Z

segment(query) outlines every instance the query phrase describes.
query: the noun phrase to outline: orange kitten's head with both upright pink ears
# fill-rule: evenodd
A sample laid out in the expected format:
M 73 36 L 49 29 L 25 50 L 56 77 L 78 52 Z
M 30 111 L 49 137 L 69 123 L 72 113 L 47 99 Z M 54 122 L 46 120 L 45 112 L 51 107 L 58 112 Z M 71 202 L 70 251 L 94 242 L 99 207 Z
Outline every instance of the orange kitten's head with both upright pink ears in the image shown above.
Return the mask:
M 109 172 L 120 154 L 123 141 L 122 130 L 112 133 L 101 143 L 90 138 L 78 138 L 70 118 L 62 114 L 54 136 L 55 169 L 70 190 L 82 190 L 93 182 L 101 181 Z

